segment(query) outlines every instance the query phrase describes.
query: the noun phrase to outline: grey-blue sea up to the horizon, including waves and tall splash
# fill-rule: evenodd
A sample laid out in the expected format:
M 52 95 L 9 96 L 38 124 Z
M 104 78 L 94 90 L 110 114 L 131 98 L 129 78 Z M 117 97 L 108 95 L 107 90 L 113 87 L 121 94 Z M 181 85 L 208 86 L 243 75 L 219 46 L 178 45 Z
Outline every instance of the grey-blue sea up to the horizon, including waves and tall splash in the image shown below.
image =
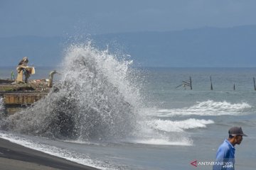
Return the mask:
M 255 169 L 256 68 L 133 68 L 90 45 L 70 46 L 60 67 L 58 90 L 1 118 L 0 137 L 99 169 L 212 169 L 235 125 L 248 135 L 235 168 Z M 192 90 L 176 88 L 189 77 Z

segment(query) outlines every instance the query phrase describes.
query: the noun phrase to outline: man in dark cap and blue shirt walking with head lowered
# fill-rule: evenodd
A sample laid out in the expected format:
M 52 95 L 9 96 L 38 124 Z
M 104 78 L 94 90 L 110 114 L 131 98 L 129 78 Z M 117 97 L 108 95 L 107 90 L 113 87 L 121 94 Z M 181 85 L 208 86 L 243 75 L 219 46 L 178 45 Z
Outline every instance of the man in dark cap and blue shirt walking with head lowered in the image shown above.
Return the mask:
M 242 132 L 241 127 L 233 127 L 228 130 L 228 140 L 224 140 L 216 154 L 216 161 L 213 170 L 234 170 L 235 169 L 235 145 L 240 145 L 242 136 L 247 136 Z

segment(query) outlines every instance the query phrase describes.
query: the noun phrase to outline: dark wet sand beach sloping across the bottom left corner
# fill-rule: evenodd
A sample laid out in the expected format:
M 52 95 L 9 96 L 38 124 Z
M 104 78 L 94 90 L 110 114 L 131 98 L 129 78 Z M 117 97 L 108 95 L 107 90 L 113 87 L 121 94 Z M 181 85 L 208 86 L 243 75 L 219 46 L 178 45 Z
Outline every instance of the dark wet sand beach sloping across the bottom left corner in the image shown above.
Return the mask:
M 1 170 L 37 170 L 37 169 L 93 169 L 90 166 L 70 162 L 0 138 Z

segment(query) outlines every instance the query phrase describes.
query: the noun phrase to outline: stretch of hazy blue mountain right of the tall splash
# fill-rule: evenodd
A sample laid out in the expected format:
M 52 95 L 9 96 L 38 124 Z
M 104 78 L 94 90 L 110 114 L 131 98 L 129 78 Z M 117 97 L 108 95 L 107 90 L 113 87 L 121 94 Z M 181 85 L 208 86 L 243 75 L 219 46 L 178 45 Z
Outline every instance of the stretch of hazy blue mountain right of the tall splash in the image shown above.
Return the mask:
M 143 66 L 256 67 L 256 26 L 120 33 L 97 39 L 101 44 L 122 44 Z

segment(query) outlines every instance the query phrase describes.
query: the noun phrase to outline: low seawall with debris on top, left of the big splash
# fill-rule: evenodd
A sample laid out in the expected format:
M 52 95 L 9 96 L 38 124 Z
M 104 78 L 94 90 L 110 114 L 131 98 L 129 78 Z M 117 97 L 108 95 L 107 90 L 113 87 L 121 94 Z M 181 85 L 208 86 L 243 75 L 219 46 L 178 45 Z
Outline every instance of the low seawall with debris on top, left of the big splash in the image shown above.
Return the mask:
M 10 115 L 31 106 L 45 97 L 50 88 L 46 80 L 31 80 L 28 84 L 15 84 L 14 80 L 0 79 L 0 97 L 4 101 L 4 114 Z

